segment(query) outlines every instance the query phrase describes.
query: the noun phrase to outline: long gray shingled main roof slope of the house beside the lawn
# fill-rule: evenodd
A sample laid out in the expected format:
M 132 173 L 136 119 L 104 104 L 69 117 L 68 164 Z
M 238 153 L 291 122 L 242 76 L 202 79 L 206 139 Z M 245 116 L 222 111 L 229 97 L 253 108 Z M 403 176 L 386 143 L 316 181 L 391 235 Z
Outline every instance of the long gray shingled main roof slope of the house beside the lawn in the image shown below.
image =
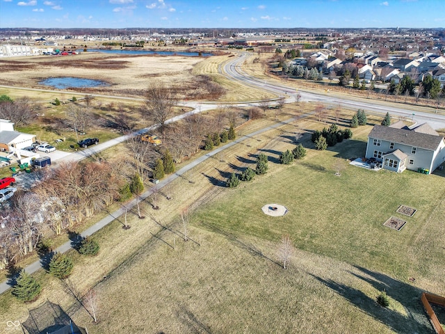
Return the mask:
M 422 134 L 413 130 L 396 129 L 383 125 L 375 125 L 369 133 L 369 137 L 432 151 L 436 150 L 444 140 L 442 136 Z

